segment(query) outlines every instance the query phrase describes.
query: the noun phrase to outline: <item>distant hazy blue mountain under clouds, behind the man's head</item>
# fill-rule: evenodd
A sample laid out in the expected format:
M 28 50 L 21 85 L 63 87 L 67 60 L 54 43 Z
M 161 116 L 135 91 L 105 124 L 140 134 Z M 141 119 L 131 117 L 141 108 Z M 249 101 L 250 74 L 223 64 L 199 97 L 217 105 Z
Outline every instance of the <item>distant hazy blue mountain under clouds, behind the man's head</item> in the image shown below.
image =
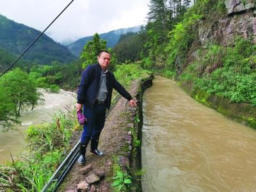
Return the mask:
M 133 28 L 122 28 L 122 29 L 116 29 L 113 31 L 109 31 L 108 33 L 101 33 L 99 34 L 100 38 L 103 38 L 104 40 L 107 40 L 107 46 L 108 47 L 114 47 L 115 44 L 118 42 L 118 39 L 121 35 L 128 33 L 128 32 L 138 32 L 140 31 L 141 26 L 135 26 Z M 84 45 L 86 42 L 92 40 L 93 36 L 86 36 L 83 38 L 80 38 L 76 42 L 67 45 L 68 49 L 72 52 L 72 54 L 79 56 L 83 50 Z

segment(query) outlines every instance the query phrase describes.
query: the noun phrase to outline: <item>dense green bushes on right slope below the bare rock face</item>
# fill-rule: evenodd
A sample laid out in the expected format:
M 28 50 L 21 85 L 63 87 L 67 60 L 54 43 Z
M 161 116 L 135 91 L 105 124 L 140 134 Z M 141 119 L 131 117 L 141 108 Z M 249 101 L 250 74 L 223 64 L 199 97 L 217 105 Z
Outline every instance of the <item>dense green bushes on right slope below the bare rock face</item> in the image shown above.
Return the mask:
M 180 81 L 193 81 L 196 89 L 256 106 L 254 51 L 255 45 L 243 38 L 237 38 L 234 47 L 210 45 L 196 63 L 186 68 Z M 212 66 L 215 68 L 209 72 Z

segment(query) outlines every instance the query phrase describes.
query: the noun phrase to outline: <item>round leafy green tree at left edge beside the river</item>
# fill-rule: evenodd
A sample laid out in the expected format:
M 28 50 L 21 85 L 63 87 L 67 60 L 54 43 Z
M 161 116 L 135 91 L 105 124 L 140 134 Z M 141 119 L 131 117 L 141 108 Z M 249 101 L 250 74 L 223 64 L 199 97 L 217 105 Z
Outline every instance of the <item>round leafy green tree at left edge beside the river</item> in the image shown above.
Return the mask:
M 35 81 L 26 72 L 15 68 L 0 79 L 0 124 L 7 128 L 18 122 L 20 113 L 28 106 L 35 106 L 41 99 L 41 93 L 35 86 Z

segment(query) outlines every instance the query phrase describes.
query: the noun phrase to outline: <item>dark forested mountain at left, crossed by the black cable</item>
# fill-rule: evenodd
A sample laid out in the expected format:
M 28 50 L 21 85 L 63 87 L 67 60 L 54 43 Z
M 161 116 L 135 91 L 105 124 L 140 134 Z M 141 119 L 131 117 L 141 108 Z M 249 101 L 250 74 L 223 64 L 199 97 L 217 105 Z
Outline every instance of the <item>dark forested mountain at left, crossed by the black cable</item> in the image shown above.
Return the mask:
M 0 47 L 14 56 L 21 54 L 40 33 L 36 29 L 0 15 Z M 76 59 L 76 56 L 64 45 L 54 42 L 47 35 L 42 35 L 23 58 L 35 63 L 49 64 L 51 61 L 70 63 Z

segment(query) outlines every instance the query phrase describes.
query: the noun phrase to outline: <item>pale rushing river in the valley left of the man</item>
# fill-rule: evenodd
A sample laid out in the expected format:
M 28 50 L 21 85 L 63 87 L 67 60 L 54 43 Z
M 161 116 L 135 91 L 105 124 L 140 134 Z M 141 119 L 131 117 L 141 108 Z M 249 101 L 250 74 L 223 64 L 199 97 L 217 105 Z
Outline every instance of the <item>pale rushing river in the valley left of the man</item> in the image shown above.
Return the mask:
M 15 158 L 26 147 L 24 140 L 26 129 L 29 125 L 38 125 L 42 122 L 50 122 L 51 115 L 57 109 L 63 109 L 66 106 L 71 106 L 76 99 L 72 92 L 61 90 L 60 93 L 49 93 L 41 90 L 44 94 L 44 104 L 36 106 L 33 111 L 28 110 L 20 116 L 21 125 L 16 125 L 19 131 L 0 132 L 0 164 L 5 161 L 10 161 L 11 156 Z

